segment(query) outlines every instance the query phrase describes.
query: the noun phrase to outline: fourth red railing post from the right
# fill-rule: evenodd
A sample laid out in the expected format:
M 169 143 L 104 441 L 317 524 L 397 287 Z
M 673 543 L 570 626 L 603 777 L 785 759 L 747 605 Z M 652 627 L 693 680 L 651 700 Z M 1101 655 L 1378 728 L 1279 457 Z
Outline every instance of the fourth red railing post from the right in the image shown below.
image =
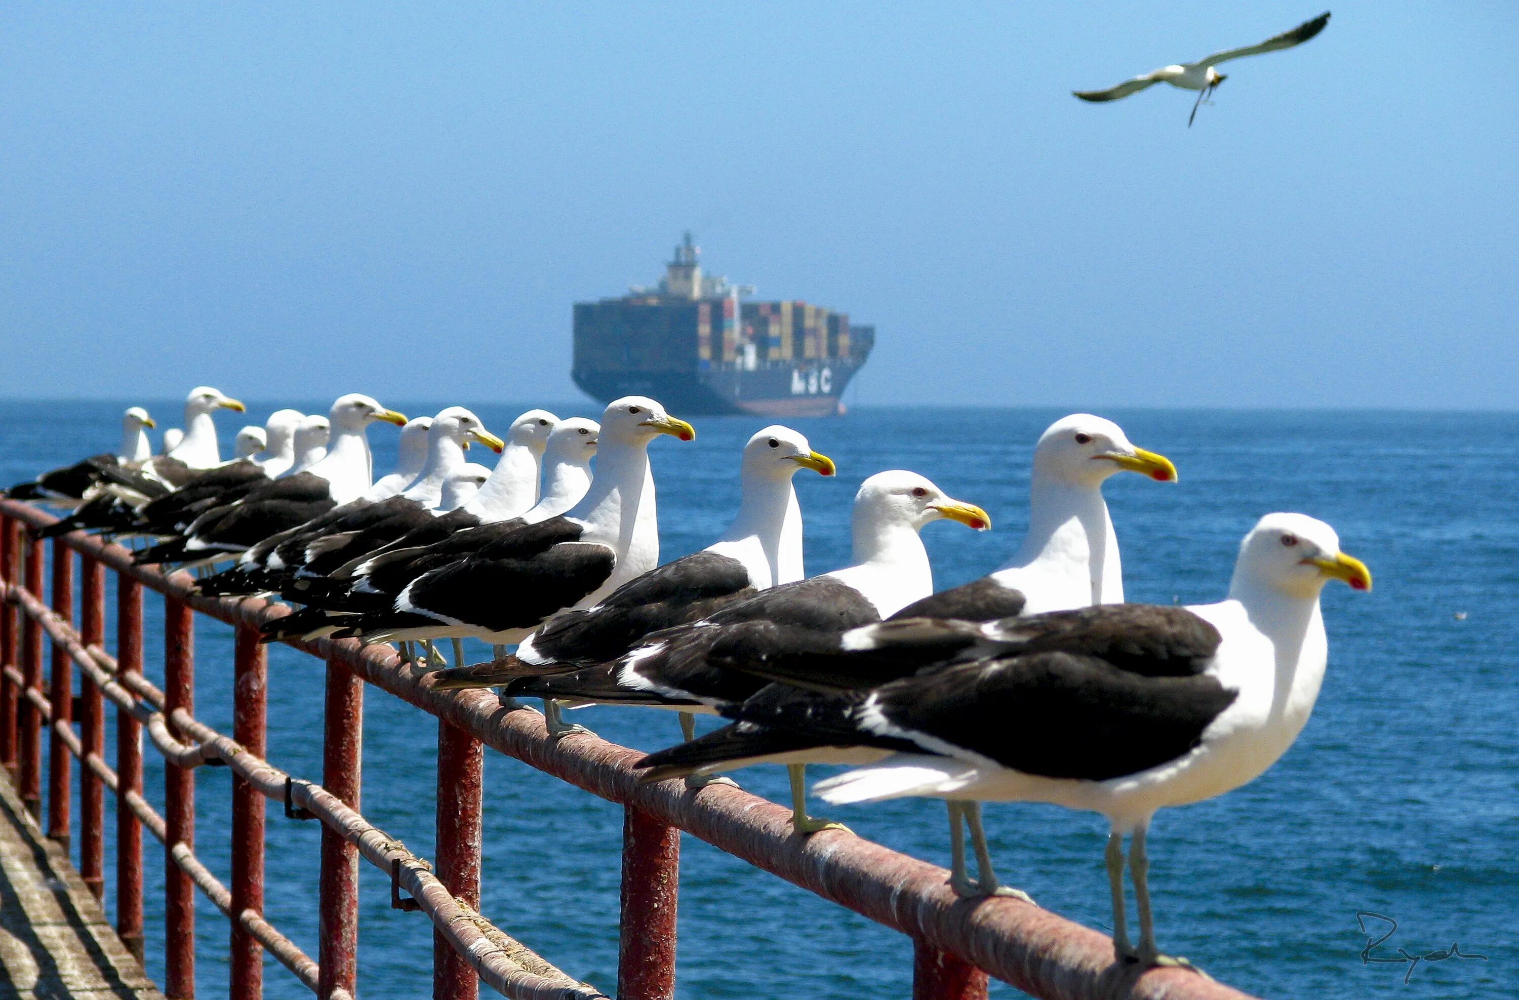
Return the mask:
M 322 786 L 358 809 L 363 760 L 365 685 L 336 658 L 327 661 L 322 726 Z M 317 900 L 316 995 L 354 992 L 358 977 L 358 848 L 322 825 L 322 881 Z

